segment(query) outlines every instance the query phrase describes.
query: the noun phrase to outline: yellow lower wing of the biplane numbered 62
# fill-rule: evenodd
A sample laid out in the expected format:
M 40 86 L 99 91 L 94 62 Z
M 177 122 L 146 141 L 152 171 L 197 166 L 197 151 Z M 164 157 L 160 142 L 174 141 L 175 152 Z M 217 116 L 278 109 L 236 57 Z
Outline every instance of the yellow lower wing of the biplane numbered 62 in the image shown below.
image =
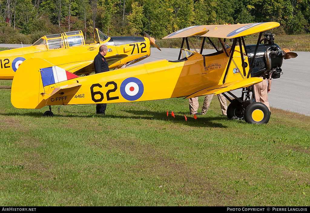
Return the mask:
M 234 82 L 226 83 L 223 85 L 216 85 L 216 86 L 212 86 L 209 88 L 201 89 L 200 91 L 197 91 L 196 93 L 193 93 L 190 96 L 187 96 L 185 98 L 194 98 L 194 97 L 199 97 L 199 96 L 208 95 L 208 94 L 217 95 L 217 94 L 232 91 L 235 89 L 240 89 L 242 87 L 248 87 L 250 85 L 257 84 L 261 81 L 263 81 L 263 79 L 257 78 L 257 77 L 246 78 L 243 80 L 234 81 Z

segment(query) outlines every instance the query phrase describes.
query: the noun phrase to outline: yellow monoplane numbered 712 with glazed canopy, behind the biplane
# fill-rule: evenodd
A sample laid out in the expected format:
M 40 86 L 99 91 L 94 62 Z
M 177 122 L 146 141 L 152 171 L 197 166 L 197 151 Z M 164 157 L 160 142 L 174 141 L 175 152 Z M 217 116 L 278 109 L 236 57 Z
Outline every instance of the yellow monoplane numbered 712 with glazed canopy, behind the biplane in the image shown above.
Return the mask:
M 0 80 L 13 79 L 20 64 L 30 58 L 46 59 L 78 76 L 89 74 L 95 71 L 94 58 L 102 44 L 108 46 L 105 58 L 110 69 L 126 67 L 150 55 L 155 40 L 146 33 L 144 36 L 108 37 L 97 28 L 92 44 L 85 44 L 81 30 L 43 36 L 31 46 L 0 52 Z

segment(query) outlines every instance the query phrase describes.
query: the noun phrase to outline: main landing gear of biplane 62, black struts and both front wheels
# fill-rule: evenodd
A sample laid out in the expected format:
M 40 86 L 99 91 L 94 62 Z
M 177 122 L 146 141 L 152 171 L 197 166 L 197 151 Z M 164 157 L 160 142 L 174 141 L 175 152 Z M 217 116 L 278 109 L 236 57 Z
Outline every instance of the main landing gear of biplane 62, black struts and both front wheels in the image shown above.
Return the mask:
M 250 92 L 253 94 L 251 98 Z M 230 101 L 227 107 L 227 117 L 231 120 L 245 120 L 250 124 L 267 124 L 270 119 L 270 111 L 266 105 L 255 102 L 253 85 L 242 89 L 242 96 L 238 98 L 231 92 L 227 92 L 235 99 L 225 98 Z

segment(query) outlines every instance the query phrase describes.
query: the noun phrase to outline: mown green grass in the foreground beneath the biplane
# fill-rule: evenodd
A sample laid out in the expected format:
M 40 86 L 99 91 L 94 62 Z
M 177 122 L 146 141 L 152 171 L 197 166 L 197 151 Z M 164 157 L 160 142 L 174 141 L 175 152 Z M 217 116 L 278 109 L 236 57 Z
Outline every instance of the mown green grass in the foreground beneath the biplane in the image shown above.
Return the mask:
M 188 100 L 173 98 L 43 117 L 47 107 L 16 109 L 10 92 L 0 89 L 0 206 L 310 203 L 305 115 L 272 108 L 268 124 L 252 125 L 227 120 L 214 99 L 195 120 Z

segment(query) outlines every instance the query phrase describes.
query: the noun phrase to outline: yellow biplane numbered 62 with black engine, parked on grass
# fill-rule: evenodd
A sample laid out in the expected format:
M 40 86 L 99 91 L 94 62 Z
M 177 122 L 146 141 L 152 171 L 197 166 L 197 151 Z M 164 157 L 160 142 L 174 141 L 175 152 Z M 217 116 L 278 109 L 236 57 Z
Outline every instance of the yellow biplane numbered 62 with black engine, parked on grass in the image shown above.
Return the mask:
M 270 112 L 264 104 L 252 99 L 251 85 L 261 82 L 260 76 L 280 77 L 283 59 L 297 56 L 281 50 L 270 33 L 262 38 L 263 31 L 279 25 L 266 22 L 184 28 L 165 37 L 183 37 L 179 59 L 163 59 L 91 76 L 75 76 L 48 60 L 27 59 L 13 79 L 11 102 L 16 108 L 38 109 L 51 105 L 192 98 L 224 93 L 231 101 L 227 111 L 229 119 L 267 123 Z M 243 36 L 254 33 L 259 33 L 257 44 L 246 46 Z M 191 36 L 203 38 L 200 51 L 190 50 Z M 218 38 L 218 46 L 210 37 Z M 203 54 L 206 39 L 215 48 L 212 54 Z M 228 39 L 232 39 L 232 45 L 225 42 Z M 187 49 L 183 48 L 184 41 Z M 241 97 L 230 92 L 239 88 L 243 88 Z M 225 93 L 235 99 L 231 100 Z M 46 114 L 51 115 L 48 112 Z

